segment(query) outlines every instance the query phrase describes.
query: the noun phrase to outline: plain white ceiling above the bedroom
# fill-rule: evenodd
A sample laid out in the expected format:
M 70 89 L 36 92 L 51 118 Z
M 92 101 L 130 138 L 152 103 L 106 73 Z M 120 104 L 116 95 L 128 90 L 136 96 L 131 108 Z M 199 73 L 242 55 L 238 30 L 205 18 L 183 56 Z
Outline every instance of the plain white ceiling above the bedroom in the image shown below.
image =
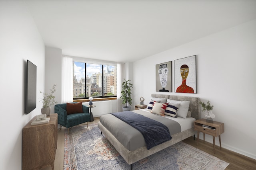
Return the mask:
M 24 0 L 46 46 L 132 62 L 256 19 L 256 0 Z

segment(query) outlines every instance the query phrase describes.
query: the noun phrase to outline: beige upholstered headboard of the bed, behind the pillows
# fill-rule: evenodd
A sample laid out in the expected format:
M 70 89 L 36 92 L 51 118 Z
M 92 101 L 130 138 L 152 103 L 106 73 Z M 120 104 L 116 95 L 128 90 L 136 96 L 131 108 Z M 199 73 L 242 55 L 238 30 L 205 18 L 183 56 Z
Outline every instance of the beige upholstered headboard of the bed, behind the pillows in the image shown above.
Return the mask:
M 190 101 L 189 109 L 191 111 L 191 117 L 195 119 L 200 118 L 201 107 L 200 107 L 200 98 L 190 97 L 190 96 L 173 96 L 166 94 L 151 94 L 152 98 L 169 98 L 170 100 L 179 100 L 179 101 Z

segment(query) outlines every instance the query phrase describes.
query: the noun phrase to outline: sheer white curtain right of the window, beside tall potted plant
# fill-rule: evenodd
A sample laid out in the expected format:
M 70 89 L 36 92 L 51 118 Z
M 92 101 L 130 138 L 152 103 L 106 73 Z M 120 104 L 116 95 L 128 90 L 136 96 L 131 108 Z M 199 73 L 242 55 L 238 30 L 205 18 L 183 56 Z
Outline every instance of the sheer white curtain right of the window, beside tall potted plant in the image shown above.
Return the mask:
M 117 111 L 122 111 L 122 102 L 120 100 L 121 97 L 121 86 L 122 86 L 122 82 L 124 80 L 124 69 L 125 69 L 125 65 L 124 63 L 117 63 L 117 72 L 116 72 L 116 76 L 117 76 L 117 80 L 116 80 L 116 110 Z

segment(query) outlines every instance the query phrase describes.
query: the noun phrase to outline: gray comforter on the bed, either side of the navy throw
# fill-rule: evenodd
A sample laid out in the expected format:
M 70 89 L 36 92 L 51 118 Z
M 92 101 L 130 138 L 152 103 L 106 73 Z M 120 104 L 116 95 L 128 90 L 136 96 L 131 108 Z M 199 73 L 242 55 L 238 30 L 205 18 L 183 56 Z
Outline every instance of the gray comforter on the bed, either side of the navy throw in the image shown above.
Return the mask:
M 181 131 L 180 124 L 171 119 L 167 119 L 160 115 L 153 113 L 148 113 L 143 110 L 135 110 L 135 113 L 149 117 L 150 119 L 159 121 L 168 127 L 170 135 L 176 134 Z M 124 147 L 128 150 L 136 150 L 140 147 L 146 146 L 143 135 L 134 127 L 128 125 L 127 123 L 121 121 L 112 114 L 102 115 L 100 117 L 100 122 L 108 131 L 110 131 Z

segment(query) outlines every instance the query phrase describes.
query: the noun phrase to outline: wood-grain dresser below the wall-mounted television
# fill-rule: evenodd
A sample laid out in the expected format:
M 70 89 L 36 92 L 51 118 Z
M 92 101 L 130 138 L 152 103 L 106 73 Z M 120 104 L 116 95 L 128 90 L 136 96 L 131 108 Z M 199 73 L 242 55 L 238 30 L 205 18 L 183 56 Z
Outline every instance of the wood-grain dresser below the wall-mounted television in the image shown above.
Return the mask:
M 49 123 L 31 125 L 34 117 L 22 129 L 22 170 L 51 166 L 54 170 L 58 139 L 58 114 L 51 114 Z

